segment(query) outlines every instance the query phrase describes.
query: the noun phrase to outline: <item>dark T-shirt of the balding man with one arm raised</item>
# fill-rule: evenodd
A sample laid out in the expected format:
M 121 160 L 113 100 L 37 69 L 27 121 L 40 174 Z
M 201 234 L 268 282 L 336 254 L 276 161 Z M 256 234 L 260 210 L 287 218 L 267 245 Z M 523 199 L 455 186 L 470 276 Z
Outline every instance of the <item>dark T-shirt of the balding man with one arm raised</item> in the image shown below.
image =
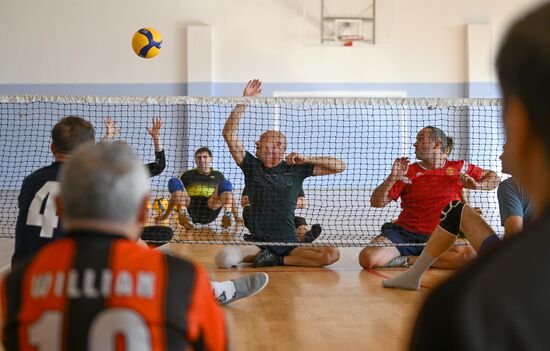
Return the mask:
M 251 241 L 298 242 L 294 225 L 296 198 L 304 179 L 313 175 L 312 164 L 264 167 L 249 152 L 240 165 L 251 209 Z

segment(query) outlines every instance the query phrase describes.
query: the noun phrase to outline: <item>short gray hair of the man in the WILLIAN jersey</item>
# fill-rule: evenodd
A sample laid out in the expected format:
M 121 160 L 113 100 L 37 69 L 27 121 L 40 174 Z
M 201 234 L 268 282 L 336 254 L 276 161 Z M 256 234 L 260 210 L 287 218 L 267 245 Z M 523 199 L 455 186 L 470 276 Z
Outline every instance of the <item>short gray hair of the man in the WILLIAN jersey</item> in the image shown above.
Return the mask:
M 127 145 L 79 149 L 60 175 L 65 218 L 126 224 L 134 221 L 149 191 L 147 170 Z

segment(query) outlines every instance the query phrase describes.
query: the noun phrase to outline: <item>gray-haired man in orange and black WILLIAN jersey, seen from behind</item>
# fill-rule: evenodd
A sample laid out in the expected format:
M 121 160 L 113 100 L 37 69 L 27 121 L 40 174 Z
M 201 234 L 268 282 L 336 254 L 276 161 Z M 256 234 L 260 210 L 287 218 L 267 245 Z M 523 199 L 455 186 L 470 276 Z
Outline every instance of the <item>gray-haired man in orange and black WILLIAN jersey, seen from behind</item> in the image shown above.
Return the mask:
M 204 269 L 134 243 L 147 178 L 122 144 L 85 147 L 65 163 L 57 207 L 67 236 L 0 282 L 7 350 L 227 348 Z

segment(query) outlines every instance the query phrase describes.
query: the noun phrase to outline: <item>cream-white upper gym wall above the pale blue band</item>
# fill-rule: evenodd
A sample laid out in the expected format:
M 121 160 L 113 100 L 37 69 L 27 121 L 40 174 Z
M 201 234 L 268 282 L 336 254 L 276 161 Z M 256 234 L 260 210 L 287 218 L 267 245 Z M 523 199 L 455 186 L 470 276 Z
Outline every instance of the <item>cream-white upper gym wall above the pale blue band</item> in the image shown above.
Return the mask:
M 542 2 L 378 0 L 378 44 L 344 48 L 305 45 L 316 24 L 304 22 L 304 1 L 0 0 L 0 84 L 187 82 L 186 26 L 197 23 L 212 26 L 214 82 L 465 82 L 465 25 L 490 24 L 496 46 Z M 164 36 L 152 60 L 130 48 L 144 26 Z

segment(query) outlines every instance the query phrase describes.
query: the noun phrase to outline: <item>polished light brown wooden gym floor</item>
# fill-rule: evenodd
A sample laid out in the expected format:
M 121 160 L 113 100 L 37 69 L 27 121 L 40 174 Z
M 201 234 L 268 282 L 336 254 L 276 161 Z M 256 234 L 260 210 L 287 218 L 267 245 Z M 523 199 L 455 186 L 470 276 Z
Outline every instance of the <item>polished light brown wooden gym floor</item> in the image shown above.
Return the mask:
M 202 263 L 211 279 L 257 271 L 217 269 L 221 246 L 170 244 L 177 255 Z M 12 240 L 0 240 L 1 267 L 9 265 Z M 451 272 L 430 270 L 420 292 L 384 289 L 380 281 L 403 269 L 364 271 L 359 248 L 341 249 L 327 268 L 275 267 L 258 295 L 224 307 L 233 350 L 404 350 L 418 307 L 431 287 Z

